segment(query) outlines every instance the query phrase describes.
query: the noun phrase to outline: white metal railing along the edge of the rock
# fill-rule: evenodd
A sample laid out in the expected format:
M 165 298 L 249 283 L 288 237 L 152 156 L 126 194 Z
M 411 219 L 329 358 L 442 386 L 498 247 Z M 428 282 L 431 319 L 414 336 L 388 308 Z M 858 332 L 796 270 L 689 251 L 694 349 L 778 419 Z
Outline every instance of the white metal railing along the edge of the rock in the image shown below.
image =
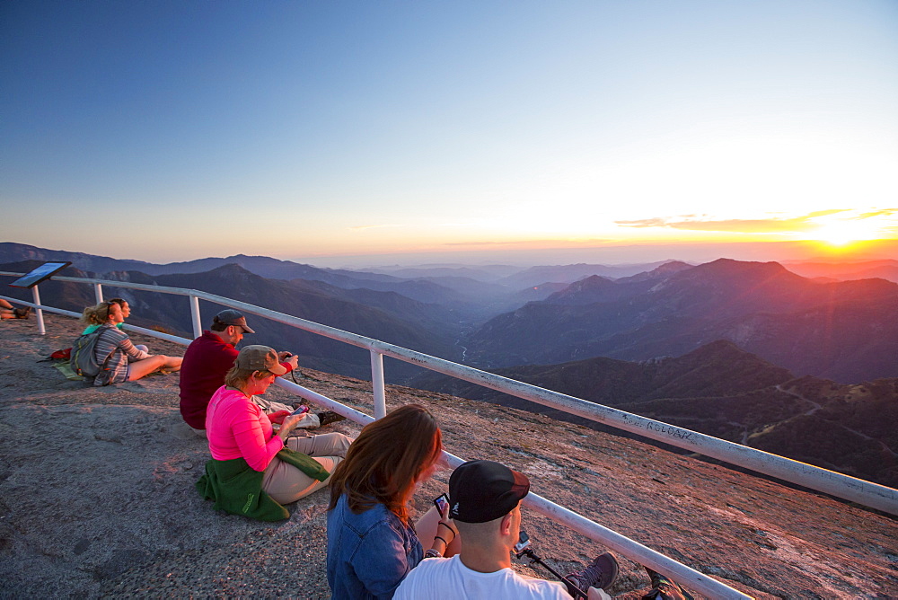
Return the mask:
M 19 277 L 22 274 L 0 271 L 0 275 Z M 374 419 L 380 419 L 386 414 L 383 378 L 383 356 L 385 355 L 413 365 L 422 366 L 431 371 L 436 371 L 437 373 L 450 375 L 462 379 L 463 381 L 479 384 L 499 392 L 523 398 L 524 400 L 535 401 L 546 406 L 564 410 L 570 414 L 586 419 L 592 419 L 605 425 L 610 425 L 631 433 L 636 433 L 640 436 L 662 441 L 672 446 L 678 446 L 691 450 L 692 452 L 718 458 L 727 463 L 743 466 L 752 469 L 753 471 L 762 472 L 785 481 L 806 486 L 813 490 L 823 491 L 842 499 L 849 499 L 867 507 L 873 507 L 894 515 L 898 514 L 898 490 L 892 488 L 877 485 L 870 481 L 859 480 L 841 473 L 827 471 L 810 464 L 799 463 L 776 454 L 755 450 L 748 446 L 740 446 L 732 442 L 727 442 L 726 440 L 701 434 L 697 431 L 691 431 L 690 429 L 679 428 L 654 419 L 646 419 L 645 417 L 640 417 L 623 410 L 612 409 L 574 396 L 568 396 L 567 394 L 552 392 L 531 384 L 524 384 L 500 375 L 480 371 L 479 369 L 470 366 L 459 365 L 442 358 L 431 357 L 415 350 L 405 349 L 380 340 L 366 338 L 365 336 L 357 335 L 349 331 L 342 331 L 328 325 L 322 325 L 321 323 L 306 321 L 289 314 L 278 313 L 277 311 L 271 311 L 260 306 L 247 304 L 224 296 L 208 294 L 207 292 L 201 292 L 194 289 L 161 287 L 94 278 L 54 276 L 52 279 L 56 281 L 93 284 L 98 303 L 102 301 L 102 286 L 189 296 L 194 337 L 198 337 L 202 334 L 202 321 L 200 318 L 198 302 L 201 298 L 208 302 L 239 309 L 243 313 L 256 314 L 271 321 L 285 323 L 286 325 L 304 331 L 316 333 L 326 338 L 330 338 L 331 340 L 339 340 L 359 348 L 368 349 L 371 354 L 374 417 L 365 415 L 363 412 L 352 409 L 338 401 L 331 400 L 326 396 L 314 393 L 312 390 L 304 388 L 301 385 L 285 381 L 282 378 L 277 379 L 277 385 L 280 387 L 295 393 L 305 400 L 314 401 L 325 408 L 334 410 L 348 419 L 352 419 L 362 425 L 365 425 Z M 33 287 L 32 290 L 34 304 L 31 305 L 36 309 L 36 316 L 41 334 L 45 332 L 42 310 L 80 316 L 78 313 L 72 313 L 71 311 L 41 305 L 37 287 Z M 14 300 L 8 296 L 0 297 Z M 20 304 L 29 304 L 22 303 L 22 301 L 19 300 L 15 301 Z M 191 341 L 178 336 L 172 336 L 159 331 L 146 330 L 133 325 L 126 324 L 125 327 L 128 330 L 141 331 L 147 335 L 163 340 L 171 340 L 180 344 L 189 344 Z M 463 462 L 461 458 L 454 456 L 453 454 L 447 453 L 447 456 L 449 463 L 452 466 L 458 466 Z M 561 507 L 550 500 L 543 499 L 534 493 L 529 494 L 527 498 L 524 499 L 524 505 L 533 508 L 533 510 L 548 516 L 563 525 L 567 525 L 574 531 L 584 534 L 596 542 L 603 543 L 614 551 L 619 551 L 629 559 L 635 560 L 650 569 L 654 569 L 657 572 L 674 579 L 683 586 L 698 591 L 705 596 L 721 598 L 749 597 L 714 578 L 709 578 L 695 569 L 691 569 L 690 567 L 653 551 L 638 542 L 630 540 L 621 534 L 617 534 L 602 525 L 598 525 L 587 519 L 585 516 L 578 515 L 577 513 L 570 511 L 565 507 Z

